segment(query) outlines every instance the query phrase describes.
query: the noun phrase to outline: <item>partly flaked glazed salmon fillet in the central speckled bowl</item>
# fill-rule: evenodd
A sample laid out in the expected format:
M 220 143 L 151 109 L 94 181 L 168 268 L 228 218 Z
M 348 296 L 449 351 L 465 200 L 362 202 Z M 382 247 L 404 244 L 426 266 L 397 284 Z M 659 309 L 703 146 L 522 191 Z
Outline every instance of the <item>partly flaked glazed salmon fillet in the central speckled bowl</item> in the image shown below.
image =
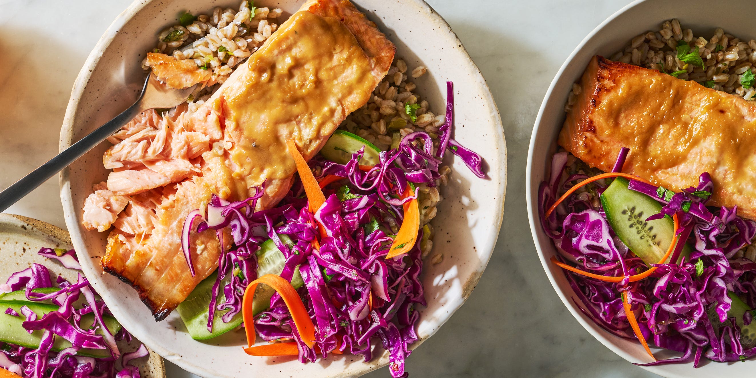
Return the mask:
M 153 133 L 139 124 L 160 129 L 155 125 L 165 123 L 170 143 L 163 143 L 173 151 L 181 139 L 186 147 L 180 156 L 172 153 L 157 162 L 113 159 L 106 153 L 108 161 L 123 166 L 111 173 L 112 193 L 101 192 L 110 196 L 101 202 L 120 207 L 122 201 L 112 196 L 121 195 L 129 205 L 119 210 L 108 237 L 104 270 L 130 283 L 157 321 L 166 318 L 215 271 L 222 249 L 230 247 L 221 246 L 212 230 L 192 234 L 193 277 L 181 251 L 181 228 L 189 212 L 203 209 L 212 194 L 243 200 L 263 183 L 256 209 L 275 206 L 296 172 L 286 141 L 293 139 L 307 160 L 318 153 L 346 116 L 367 103 L 394 54 L 394 45 L 349 1 L 309 1 L 196 111 L 141 120 L 119 132 L 125 141 L 138 132 Z M 197 151 L 201 155 L 193 157 Z M 162 172 L 156 163 L 163 162 L 174 164 Z M 129 182 L 134 190 L 124 184 Z

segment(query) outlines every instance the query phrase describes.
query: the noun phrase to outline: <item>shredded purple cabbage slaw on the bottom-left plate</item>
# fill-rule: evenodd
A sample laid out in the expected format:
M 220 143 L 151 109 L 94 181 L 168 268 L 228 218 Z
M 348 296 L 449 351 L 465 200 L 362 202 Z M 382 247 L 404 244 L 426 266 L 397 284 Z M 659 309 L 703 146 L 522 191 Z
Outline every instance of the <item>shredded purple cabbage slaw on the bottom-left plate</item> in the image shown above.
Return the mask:
M 39 255 L 56 259 L 67 268 L 81 269 L 73 249 L 42 248 Z M 110 311 L 104 302 L 98 300 L 97 293 L 89 285 L 89 281 L 79 274 L 76 282 L 69 282 L 60 276 L 55 282 L 60 290 L 48 294 L 33 292 L 35 289 L 54 287 L 48 268 L 35 263 L 23 271 L 11 274 L 6 283 L 0 284 L 0 291 L 4 293 L 24 290 L 28 301 L 48 300 L 60 306 L 57 311 L 51 311 L 39 319 L 26 305 L 20 308 L 22 314 L 18 314 L 12 308 L 5 310 L 5 314 L 23 316 L 23 328 L 27 332 L 44 330 L 44 333 L 37 349 L 0 342 L 0 367 L 23 378 L 139 378 L 138 367 L 130 362 L 149 355 L 147 348 L 140 344 L 135 352 L 121 354 L 116 341 L 125 339 L 126 342 L 131 342 L 132 336 L 125 329 L 113 335 L 104 326 L 102 315 L 110 314 Z M 84 296 L 85 305 L 83 308 L 74 308 L 73 303 L 79 300 L 80 296 Z M 85 329 L 80 321 L 82 315 L 90 313 L 95 316 L 95 327 Z M 103 335 L 96 333 L 98 329 L 102 330 Z M 51 352 L 56 337 L 68 340 L 73 346 L 57 354 Z M 105 349 L 110 352 L 110 357 L 91 358 L 76 355 L 82 348 Z

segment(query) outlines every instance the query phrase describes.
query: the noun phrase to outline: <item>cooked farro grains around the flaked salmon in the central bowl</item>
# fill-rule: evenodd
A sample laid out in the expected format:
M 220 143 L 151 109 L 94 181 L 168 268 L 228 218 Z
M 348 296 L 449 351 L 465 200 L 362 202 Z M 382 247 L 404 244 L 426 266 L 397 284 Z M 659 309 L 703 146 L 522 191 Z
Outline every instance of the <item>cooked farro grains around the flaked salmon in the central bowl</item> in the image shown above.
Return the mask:
M 197 89 L 188 102 L 188 111 L 194 112 L 206 101 L 220 84 L 228 79 L 240 63 L 268 39 L 278 27 L 277 18 L 283 11 L 280 8 L 256 8 L 254 16 L 246 1 L 241 2 L 238 10 L 232 8 L 214 8 L 211 14 L 200 14 L 187 26 L 175 25 L 163 30 L 158 35 L 154 52 L 169 54 L 180 60 L 194 60 L 199 67 L 212 70 L 212 79 L 205 88 Z M 149 70 L 142 64 L 144 70 Z M 428 101 L 414 92 L 415 82 L 407 81 L 411 76 L 417 79 L 427 73 L 426 67 L 411 69 L 407 62 L 395 58 L 386 77 L 376 86 L 373 97 L 363 107 L 351 113 L 339 129 L 352 132 L 375 144 L 381 150 L 389 150 L 392 137 L 404 136 L 416 131 L 425 131 L 433 138 L 434 150 L 438 148 L 438 126 L 445 122 L 445 115 L 432 113 Z M 407 113 L 405 105 L 419 104 L 414 117 Z M 414 121 L 412 120 L 414 118 Z M 320 172 L 315 172 L 320 175 Z M 439 185 L 448 183 L 451 173 L 449 166 L 439 169 L 441 177 L 436 187 L 427 184 L 418 185 L 420 189 L 420 225 L 426 226 L 428 237 L 423 237 L 420 249 L 426 257 L 432 249 L 433 227 L 429 225 L 437 213 L 438 203 L 442 197 Z M 389 222 L 391 220 L 389 219 Z M 391 225 L 394 232 L 397 225 Z M 433 257 L 434 264 L 442 259 L 441 255 Z M 438 262 L 435 262 L 438 260 Z

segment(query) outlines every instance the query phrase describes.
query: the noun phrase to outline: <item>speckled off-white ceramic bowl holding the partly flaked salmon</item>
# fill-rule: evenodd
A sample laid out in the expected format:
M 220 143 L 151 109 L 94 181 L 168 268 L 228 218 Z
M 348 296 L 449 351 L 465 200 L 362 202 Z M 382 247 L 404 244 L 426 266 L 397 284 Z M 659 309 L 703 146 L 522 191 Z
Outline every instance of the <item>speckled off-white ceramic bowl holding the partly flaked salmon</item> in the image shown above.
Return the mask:
M 116 18 L 79 73 L 60 133 L 60 147 L 82 138 L 135 100 L 144 81 L 140 61 L 145 51 L 153 48 L 157 33 L 175 23 L 182 11 L 206 13 L 215 6 L 238 7 L 239 2 L 141 0 L 132 4 Z M 438 231 L 434 253 L 442 253 L 444 259 L 438 265 L 428 263 L 423 271 L 428 306 L 420 310 L 418 333 L 422 342 L 463 304 L 491 257 L 507 184 L 506 145 L 488 86 L 442 17 L 421 0 L 355 3 L 395 42 L 398 57 L 404 57 L 410 67 L 428 68 L 429 74 L 417 84 L 436 113 L 444 110 L 445 81 L 454 82 L 455 138 L 481 153 L 490 167 L 490 179 L 481 180 L 461 160 L 448 158 L 454 173 L 442 190 L 445 201 L 433 221 Z M 288 15 L 299 9 L 301 2 L 258 0 L 256 5 L 283 8 Z M 107 177 L 101 160 L 106 148 L 107 143 L 102 144 L 63 172 L 60 196 L 85 274 L 116 318 L 147 346 L 200 376 L 358 376 L 388 363 L 388 353 L 381 349 L 369 363 L 351 355 L 314 364 L 299 364 L 293 358 L 254 358 L 243 353 L 241 333 L 197 342 L 186 333 L 178 314 L 160 323 L 153 321 L 131 287 L 102 274 L 98 256 L 104 253 L 107 233 L 87 231 L 80 224 L 91 185 Z

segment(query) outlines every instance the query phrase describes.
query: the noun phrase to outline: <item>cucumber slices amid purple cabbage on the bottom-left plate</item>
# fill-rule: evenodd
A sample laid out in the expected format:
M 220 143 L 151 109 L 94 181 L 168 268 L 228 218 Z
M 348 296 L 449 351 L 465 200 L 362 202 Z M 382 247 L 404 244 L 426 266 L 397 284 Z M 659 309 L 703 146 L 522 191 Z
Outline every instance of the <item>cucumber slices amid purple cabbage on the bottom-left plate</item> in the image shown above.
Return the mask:
M 5 314 L 6 308 L 13 308 L 19 314 L 21 313 L 21 307 L 26 305 L 37 314 L 37 318 L 42 318 L 43 315 L 51 311 L 57 311 L 57 305 L 47 305 L 45 303 L 26 302 L 20 300 L 0 300 L 0 341 L 8 342 L 9 344 L 21 345 L 26 348 L 38 348 L 39 342 L 42 340 L 43 330 L 35 330 L 32 333 L 26 332 L 22 324 L 25 321 L 23 315 L 13 316 Z M 108 315 L 103 315 L 103 321 L 105 327 L 110 330 L 114 335 L 121 330 L 121 324 L 116 321 L 115 318 Z M 82 329 L 88 329 L 92 324 L 95 324 L 94 314 L 85 314 L 82 316 L 80 322 Z M 97 333 L 102 335 L 103 330 L 98 329 Z M 63 349 L 70 348 L 71 343 L 66 339 L 56 336 L 52 345 L 53 352 L 60 352 Z M 110 352 L 107 349 L 81 349 L 76 355 L 82 355 L 87 357 L 109 357 Z

